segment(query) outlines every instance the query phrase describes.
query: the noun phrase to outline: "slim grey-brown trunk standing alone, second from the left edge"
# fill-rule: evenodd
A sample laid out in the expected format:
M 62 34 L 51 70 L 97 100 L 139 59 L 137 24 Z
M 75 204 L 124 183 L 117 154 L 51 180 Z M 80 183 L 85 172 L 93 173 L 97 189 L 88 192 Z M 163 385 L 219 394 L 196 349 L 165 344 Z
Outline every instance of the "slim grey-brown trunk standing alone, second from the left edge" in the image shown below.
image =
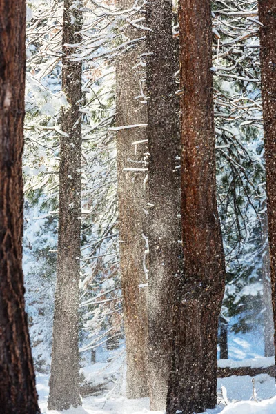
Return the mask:
M 79 271 L 81 244 L 81 72 L 72 54 L 81 42 L 82 13 L 75 0 L 64 1 L 62 87 L 69 109 L 61 114 L 59 168 L 59 237 L 57 286 L 52 343 L 49 409 L 66 410 L 81 404 L 79 397 Z M 78 2 L 81 8 L 81 2 Z M 70 57 L 71 55 L 71 57 Z

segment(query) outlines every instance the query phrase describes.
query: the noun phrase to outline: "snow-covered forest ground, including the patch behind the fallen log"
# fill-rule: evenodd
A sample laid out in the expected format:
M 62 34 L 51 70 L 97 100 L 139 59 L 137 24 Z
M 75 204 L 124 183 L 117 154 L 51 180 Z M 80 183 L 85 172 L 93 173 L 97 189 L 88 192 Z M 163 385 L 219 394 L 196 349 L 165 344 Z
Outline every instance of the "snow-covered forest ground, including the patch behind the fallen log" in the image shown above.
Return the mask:
M 229 356 L 231 359 L 220 359 L 220 367 L 252 368 L 273 365 L 274 357 L 264 358 L 263 339 L 258 331 L 238 335 L 230 333 L 228 337 Z M 111 362 L 106 362 L 109 357 Z M 84 359 L 83 359 L 84 361 Z M 50 360 L 48 361 L 50 363 Z M 112 353 L 106 353 L 104 348 L 97 351 L 97 362 L 88 362 L 81 369 L 81 375 L 91 386 L 108 383 L 107 391 L 98 396 L 83 398 L 82 408 L 71 408 L 63 414 L 164 414 L 162 411 L 150 411 L 149 400 L 128 400 L 124 397 L 125 351 L 122 345 Z M 37 391 L 39 406 L 42 414 L 60 414 L 59 411 L 49 411 L 48 400 L 49 374 L 37 373 Z M 108 382 L 110 380 L 110 382 Z M 206 414 L 275 414 L 276 388 L 275 379 L 266 374 L 254 377 L 219 378 L 217 384 L 217 407 L 206 411 Z M 256 401 L 257 402 L 256 402 Z

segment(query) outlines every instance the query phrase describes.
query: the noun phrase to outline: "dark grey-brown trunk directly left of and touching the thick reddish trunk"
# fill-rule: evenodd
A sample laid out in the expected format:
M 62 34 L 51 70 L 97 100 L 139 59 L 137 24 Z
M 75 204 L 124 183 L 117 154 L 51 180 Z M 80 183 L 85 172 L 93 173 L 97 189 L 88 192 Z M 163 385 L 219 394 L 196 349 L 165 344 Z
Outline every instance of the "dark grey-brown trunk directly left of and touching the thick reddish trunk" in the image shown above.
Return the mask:
M 148 83 L 148 372 L 150 409 L 166 406 L 172 346 L 172 297 L 181 268 L 179 105 L 177 45 L 172 38 L 172 2 L 147 4 Z M 178 158 L 178 160 L 177 160 Z

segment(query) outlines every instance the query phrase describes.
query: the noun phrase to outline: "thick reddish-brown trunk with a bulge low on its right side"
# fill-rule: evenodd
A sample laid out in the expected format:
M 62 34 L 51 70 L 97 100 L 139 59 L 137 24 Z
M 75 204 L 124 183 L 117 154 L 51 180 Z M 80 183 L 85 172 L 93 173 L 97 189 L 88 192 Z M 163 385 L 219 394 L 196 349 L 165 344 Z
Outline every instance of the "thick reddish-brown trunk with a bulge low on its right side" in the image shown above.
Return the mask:
M 181 217 L 184 277 L 174 305 L 167 413 L 217 401 L 217 329 L 226 276 L 216 201 L 210 0 L 181 0 Z

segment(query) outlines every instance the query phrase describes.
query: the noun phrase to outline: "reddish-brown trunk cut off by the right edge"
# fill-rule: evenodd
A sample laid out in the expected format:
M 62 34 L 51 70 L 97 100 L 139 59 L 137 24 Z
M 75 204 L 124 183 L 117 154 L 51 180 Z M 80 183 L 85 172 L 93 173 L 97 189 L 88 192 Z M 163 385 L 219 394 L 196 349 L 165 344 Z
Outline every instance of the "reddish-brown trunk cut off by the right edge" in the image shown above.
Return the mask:
M 266 193 L 268 211 L 268 241 L 274 328 L 276 328 L 276 3 L 259 0 L 259 31 L 261 44 L 262 99 L 264 117 L 264 150 L 266 160 Z M 276 346 L 274 335 L 274 346 Z

